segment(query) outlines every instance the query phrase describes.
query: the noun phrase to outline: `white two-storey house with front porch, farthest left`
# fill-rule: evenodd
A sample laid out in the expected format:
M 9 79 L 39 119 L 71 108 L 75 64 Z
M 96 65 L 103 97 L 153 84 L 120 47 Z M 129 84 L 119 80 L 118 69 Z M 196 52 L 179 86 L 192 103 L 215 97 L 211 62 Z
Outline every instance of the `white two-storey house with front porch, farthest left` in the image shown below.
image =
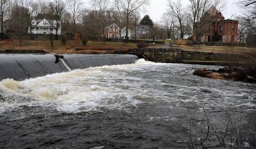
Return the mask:
M 57 22 L 56 20 L 43 20 L 41 19 L 33 19 L 32 27 L 28 29 L 28 32 L 31 34 L 55 34 L 57 30 Z M 58 21 L 58 30 L 57 34 L 61 34 L 61 21 Z

